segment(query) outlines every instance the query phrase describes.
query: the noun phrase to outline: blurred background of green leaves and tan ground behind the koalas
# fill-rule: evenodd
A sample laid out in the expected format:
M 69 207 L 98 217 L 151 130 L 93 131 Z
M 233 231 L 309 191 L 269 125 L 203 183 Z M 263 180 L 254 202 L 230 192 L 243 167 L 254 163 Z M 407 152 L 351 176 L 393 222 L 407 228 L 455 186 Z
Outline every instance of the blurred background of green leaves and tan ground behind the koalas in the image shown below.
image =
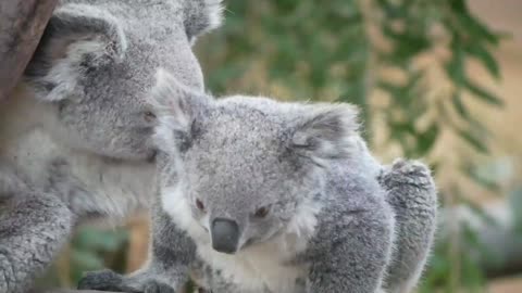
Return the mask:
M 440 228 L 419 292 L 522 292 L 522 1 L 224 2 L 195 48 L 209 91 L 358 104 L 376 156 L 434 169 Z M 148 238 L 146 215 L 82 227 L 39 284 L 133 271 Z

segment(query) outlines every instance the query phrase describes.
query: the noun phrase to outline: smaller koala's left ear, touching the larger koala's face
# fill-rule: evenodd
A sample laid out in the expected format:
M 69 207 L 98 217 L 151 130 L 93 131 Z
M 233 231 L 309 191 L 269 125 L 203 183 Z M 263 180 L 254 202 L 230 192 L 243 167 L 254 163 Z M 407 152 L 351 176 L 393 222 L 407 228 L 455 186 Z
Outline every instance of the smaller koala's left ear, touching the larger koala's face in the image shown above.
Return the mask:
M 192 139 L 192 124 L 209 98 L 182 85 L 165 69 L 159 69 L 151 101 L 158 126 L 154 133 L 157 146 L 172 153 Z

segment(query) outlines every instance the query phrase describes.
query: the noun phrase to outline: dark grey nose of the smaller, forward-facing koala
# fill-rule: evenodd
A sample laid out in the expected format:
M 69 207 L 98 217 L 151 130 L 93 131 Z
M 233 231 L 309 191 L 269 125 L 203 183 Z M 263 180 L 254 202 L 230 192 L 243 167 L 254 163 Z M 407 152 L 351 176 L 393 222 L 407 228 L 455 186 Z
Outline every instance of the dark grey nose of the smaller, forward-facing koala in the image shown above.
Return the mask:
M 239 227 L 232 219 L 216 218 L 211 228 L 212 249 L 221 253 L 234 254 L 239 242 Z

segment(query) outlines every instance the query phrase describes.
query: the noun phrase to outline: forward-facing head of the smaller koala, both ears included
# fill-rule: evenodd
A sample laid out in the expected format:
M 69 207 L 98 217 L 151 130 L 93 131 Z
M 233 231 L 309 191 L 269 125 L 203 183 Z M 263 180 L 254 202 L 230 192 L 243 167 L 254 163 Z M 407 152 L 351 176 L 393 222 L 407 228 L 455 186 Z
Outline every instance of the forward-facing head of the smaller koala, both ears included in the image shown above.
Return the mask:
M 284 232 L 321 195 L 325 167 L 352 152 L 358 124 L 351 105 L 213 100 L 164 72 L 158 82 L 163 208 L 174 215 L 188 204 L 189 217 L 219 252 Z

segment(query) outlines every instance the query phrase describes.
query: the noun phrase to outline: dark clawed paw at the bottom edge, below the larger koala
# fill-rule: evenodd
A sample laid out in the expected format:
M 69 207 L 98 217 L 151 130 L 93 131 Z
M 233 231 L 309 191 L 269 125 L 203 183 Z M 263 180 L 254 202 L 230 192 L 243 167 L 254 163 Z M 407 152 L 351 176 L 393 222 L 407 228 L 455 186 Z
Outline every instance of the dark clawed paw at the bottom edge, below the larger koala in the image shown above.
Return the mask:
M 78 282 L 78 290 L 122 291 L 123 277 L 110 269 L 89 271 Z

